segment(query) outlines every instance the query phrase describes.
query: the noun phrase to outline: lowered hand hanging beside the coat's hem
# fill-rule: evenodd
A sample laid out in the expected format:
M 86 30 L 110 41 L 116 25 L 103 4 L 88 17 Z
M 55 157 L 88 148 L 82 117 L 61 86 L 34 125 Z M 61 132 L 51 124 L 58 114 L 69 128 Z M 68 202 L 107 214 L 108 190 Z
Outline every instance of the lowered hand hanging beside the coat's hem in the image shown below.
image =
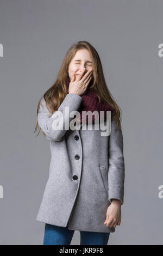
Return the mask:
M 106 227 L 112 228 L 121 223 L 121 204 L 117 200 L 113 200 L 106 212 L 106 220 L 104 224 Z

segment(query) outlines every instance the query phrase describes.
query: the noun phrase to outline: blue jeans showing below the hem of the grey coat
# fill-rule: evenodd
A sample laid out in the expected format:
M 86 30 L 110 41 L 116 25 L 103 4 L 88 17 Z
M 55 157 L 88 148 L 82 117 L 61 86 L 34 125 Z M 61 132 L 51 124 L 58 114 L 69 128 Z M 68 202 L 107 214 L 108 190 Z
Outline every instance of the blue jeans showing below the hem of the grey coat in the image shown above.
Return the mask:
M 74 231 L 45 223 L 43 245 L 70 245 Z M 109 235 L 110 233 L 80 231 L 80 245 L 107 245 Z

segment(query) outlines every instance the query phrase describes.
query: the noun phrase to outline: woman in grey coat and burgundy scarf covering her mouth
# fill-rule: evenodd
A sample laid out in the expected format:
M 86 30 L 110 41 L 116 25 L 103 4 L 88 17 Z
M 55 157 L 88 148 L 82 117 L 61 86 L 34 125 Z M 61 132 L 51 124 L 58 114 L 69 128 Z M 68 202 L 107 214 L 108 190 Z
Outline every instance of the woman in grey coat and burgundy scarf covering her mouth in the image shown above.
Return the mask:
M 80 245 L 107 245 L 110 232 L 120 225 L 124 196 L 120 120 L 120 107 L 106 86 L 97 51 L 89 42 L 78 41 L 67 51 L 57 80 L 37 106 L 35 131 L 39 125 L 51 149 L 49 176 L 36 216 L 45 223 L 43 245 L 70 245 L 74 230 L 80 231 Z M 110 133 L 102 132 L 103 127 Z

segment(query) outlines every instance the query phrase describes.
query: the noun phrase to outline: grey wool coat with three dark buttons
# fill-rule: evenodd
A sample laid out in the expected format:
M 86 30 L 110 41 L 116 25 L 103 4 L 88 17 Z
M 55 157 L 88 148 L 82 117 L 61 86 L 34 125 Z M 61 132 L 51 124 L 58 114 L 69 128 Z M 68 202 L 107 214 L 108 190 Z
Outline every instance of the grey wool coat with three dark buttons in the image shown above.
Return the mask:
M 67 94 L 58 111 L 78 111 L 82 97 Z M 49 176 L 36 221 L 71 230 L 114 232 L 106 227 L 106 211 L 112 198 L 123 204 L 124 157 L 122 130 L 111 121 L 109 136 L 101 130 L 53 130 L 42 97 L 38 123 L 50 141 Z M 68 115 L 68 120 L 71 121 Z

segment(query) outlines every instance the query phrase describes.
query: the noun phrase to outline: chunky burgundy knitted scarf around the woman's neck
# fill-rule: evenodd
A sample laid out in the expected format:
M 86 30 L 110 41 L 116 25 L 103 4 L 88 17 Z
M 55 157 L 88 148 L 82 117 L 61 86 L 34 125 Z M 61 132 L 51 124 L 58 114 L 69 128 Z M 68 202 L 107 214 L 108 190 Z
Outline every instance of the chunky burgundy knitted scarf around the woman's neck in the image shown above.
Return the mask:
M 67 75 L 66 78 L 66 86 L 67 86 L 67 93 L 68 93 L 68 88 L 69 88 L 69 83 L 70 83 L 70 77 Z M 112 107 L 106 102 L 101 100 L 101 103 L 98 101 L 97 95 L 90 90 L 90 86 L 92 84 L 92 81 L 90 81 L 87 91 L 84 95 L 82 95 L 82 102 L 80 104 L 80 107 L 78 109 L 78 112 L 80 112 L 80 123 L 86 123 L 88 124 L 88 117 L 86 115 L 86 119 L 82 120 L 82 111 L 98 111 L 99 113 L 99 121 L 100 121 L 100 111 L 104 111 L 104 117 L 106 120 L 106 111 L 112 111 Z M 96 118 L 98 115 L 92 115 L 92 124 L 95 123 Z

